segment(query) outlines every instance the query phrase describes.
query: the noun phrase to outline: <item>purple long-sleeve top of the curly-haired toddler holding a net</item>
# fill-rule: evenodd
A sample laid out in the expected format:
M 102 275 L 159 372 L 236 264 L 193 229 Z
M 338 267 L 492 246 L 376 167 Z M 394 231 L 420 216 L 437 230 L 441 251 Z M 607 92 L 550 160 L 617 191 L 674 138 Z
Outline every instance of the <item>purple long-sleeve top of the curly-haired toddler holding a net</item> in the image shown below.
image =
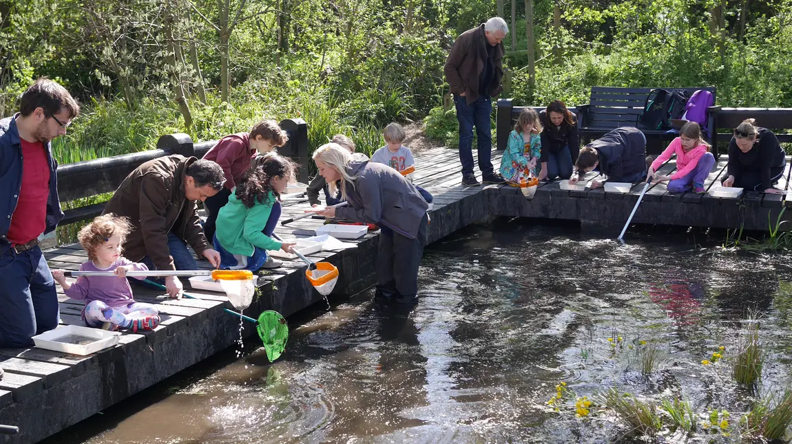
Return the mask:
M 80 271 L 115 271 L 120 266 L 125 266 L 128 271 L 148 271 L 146 264 L 131 262 L 129 259 L 120 257 L 116 259 L 106 269 L 101 269 L 88 261 L 80 265 Z M 145 279 L 146 277 L 137 277 Z M 125 277 L 117 276 L 81 276 L 74 284 L 63 293 L 71 299 L 85 300 L 86 303 L 101 301 L 110 307 L 124 307 L 129 303 L 135 302 L 132 299 L 132 288 Z

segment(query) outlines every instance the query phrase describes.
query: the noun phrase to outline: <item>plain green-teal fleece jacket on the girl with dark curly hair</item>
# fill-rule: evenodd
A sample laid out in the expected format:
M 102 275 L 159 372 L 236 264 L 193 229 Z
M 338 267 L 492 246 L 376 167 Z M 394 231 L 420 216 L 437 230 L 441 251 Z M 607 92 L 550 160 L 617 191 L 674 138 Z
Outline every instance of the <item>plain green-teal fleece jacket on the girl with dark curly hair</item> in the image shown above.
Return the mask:
M 247 209 L 237 198 L 236 188 L 231 190 L 228 203 L 217 214 L 215 236 L 220 245 L 230 254 L 244 256 L 252 256 L 256 246 L 265 250 L 279 250 L 280 242 L 261 232 L 274 203 L 275 195 L 270 191 L 264 202 L 256 201 L 253 208 Z

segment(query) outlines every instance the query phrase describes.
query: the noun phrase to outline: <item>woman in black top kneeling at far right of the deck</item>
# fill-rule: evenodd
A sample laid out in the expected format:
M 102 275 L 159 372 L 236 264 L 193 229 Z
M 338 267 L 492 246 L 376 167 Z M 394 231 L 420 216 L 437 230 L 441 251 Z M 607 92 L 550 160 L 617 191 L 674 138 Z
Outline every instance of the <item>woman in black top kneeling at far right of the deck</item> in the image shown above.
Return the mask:
M 786 154 L 775 134 L 754 122 L 746 119 L 734 130 L 729 142 L 728 176 L 723 186 L 782 194 L 773 184 L 784 172 Z

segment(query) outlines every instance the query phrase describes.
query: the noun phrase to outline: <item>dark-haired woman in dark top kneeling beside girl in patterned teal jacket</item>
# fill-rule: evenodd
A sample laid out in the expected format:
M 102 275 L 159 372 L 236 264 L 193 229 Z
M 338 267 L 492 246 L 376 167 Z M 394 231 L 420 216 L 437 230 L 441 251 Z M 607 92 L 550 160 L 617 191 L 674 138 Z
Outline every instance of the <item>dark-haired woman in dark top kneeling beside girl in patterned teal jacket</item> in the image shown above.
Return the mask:
M 572 165 L 577 161 L 580 138 L 577 137 L 577 122 L 561 100 L 553 100 L 547 109 L 539 113 L 542 122 L 542 170 L 539 180 L 569 179 Z

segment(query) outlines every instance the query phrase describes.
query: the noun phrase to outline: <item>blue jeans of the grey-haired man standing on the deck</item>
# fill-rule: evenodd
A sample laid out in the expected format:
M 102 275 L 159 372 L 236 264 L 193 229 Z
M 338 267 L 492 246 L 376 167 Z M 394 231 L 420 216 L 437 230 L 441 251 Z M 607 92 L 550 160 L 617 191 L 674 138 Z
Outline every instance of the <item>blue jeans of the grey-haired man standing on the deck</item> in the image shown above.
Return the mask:
M 493 135 L 489 126 L 489 115 L 493 111 L 492 100 L 488 96 L 479 96 L 474 103 L 467 104 L 467 99 L 454 96 L 456 119 L 459 121 L 459 161 L 462 162 L 462 174 L 473 174 L 473 127 L 478 137 L 478 169 L 483 175 L 493 174 L 491 160 Z

